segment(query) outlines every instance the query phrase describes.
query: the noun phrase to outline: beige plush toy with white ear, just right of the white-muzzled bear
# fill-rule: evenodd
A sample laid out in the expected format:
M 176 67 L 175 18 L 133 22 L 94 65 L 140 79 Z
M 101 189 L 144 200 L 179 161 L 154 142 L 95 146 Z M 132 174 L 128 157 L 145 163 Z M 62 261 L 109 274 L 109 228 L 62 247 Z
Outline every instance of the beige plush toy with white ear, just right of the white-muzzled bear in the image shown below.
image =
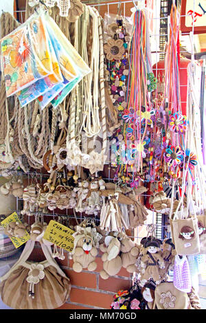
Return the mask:
M 100 245 L 101 252 L 104 252 L 103 270 L 100 271 L 100 276 L 102 279 L 108 279 L 110 276 L 117 275 L 122 268 L 122 258 L 119 256 L 121 243 L 115 236 L 106 236 L 104 243 L 106 247 Z

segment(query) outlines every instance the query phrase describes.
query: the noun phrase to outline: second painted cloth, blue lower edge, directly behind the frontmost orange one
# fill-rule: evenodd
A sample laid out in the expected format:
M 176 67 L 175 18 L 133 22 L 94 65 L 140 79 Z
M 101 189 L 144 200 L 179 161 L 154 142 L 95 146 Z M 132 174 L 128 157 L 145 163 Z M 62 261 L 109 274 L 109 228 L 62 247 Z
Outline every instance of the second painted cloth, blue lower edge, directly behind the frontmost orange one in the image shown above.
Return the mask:
M 46 76 L 45 78 L 36 81 L 34 84 L 30 85 L 30 87 L 27 87 L 26 89 L 23 89 L 19 93 L 17 93 L 17 96 L 21 103 L 21 107 L 24 107 L 26 104 L 32 102 L 39 96 L 42 96 L 44 93 L 54 88 L 55 85 L 58 85 L 63 81 L 62 73 L 60 71 L 60 66 L 56 58 L 54 47 L 49 37 L 48 41 L 49 50 L 52 57 L 53 74 L 50 74 L 49 76 Z

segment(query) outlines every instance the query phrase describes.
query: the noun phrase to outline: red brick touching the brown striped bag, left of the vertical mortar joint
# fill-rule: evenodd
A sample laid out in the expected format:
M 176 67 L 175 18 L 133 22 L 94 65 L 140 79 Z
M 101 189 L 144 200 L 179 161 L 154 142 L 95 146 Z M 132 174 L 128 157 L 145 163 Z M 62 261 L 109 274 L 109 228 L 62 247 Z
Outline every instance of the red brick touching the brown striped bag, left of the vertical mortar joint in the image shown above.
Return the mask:
M 97 288 L 97 278 L 95 274 L 76 273 L 73 270 L 65 270 L 65 273 L 71 281 L 71 285 L 80 287 Z

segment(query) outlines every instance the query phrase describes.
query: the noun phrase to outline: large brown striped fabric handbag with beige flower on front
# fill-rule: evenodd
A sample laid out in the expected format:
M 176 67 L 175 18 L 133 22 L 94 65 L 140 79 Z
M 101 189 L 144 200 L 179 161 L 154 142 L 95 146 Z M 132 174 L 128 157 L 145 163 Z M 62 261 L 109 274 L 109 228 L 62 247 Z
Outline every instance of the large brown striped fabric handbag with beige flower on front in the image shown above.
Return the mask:
M 52 258 L 50 246 L 41 245 L 45 261 L 27 261 L 34 245 L 28 241 L 19 260 L 0 278 L 1 299 L 12 309 L 56 309 L 69 297 L 71 283 Z

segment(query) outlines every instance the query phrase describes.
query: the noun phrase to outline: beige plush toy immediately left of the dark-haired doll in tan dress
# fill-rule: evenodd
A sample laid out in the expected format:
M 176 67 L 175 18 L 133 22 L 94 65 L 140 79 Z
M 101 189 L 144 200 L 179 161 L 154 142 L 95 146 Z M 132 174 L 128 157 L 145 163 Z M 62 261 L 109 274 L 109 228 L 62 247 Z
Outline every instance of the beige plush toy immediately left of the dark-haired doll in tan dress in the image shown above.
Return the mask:
M 126 268 L 128 273 L 134 273 L 137 271 L 136 262 L 139 255 L 139 248 L 135 243 L 127 236 L 121 241 L 121 258 L 122 267 Z

